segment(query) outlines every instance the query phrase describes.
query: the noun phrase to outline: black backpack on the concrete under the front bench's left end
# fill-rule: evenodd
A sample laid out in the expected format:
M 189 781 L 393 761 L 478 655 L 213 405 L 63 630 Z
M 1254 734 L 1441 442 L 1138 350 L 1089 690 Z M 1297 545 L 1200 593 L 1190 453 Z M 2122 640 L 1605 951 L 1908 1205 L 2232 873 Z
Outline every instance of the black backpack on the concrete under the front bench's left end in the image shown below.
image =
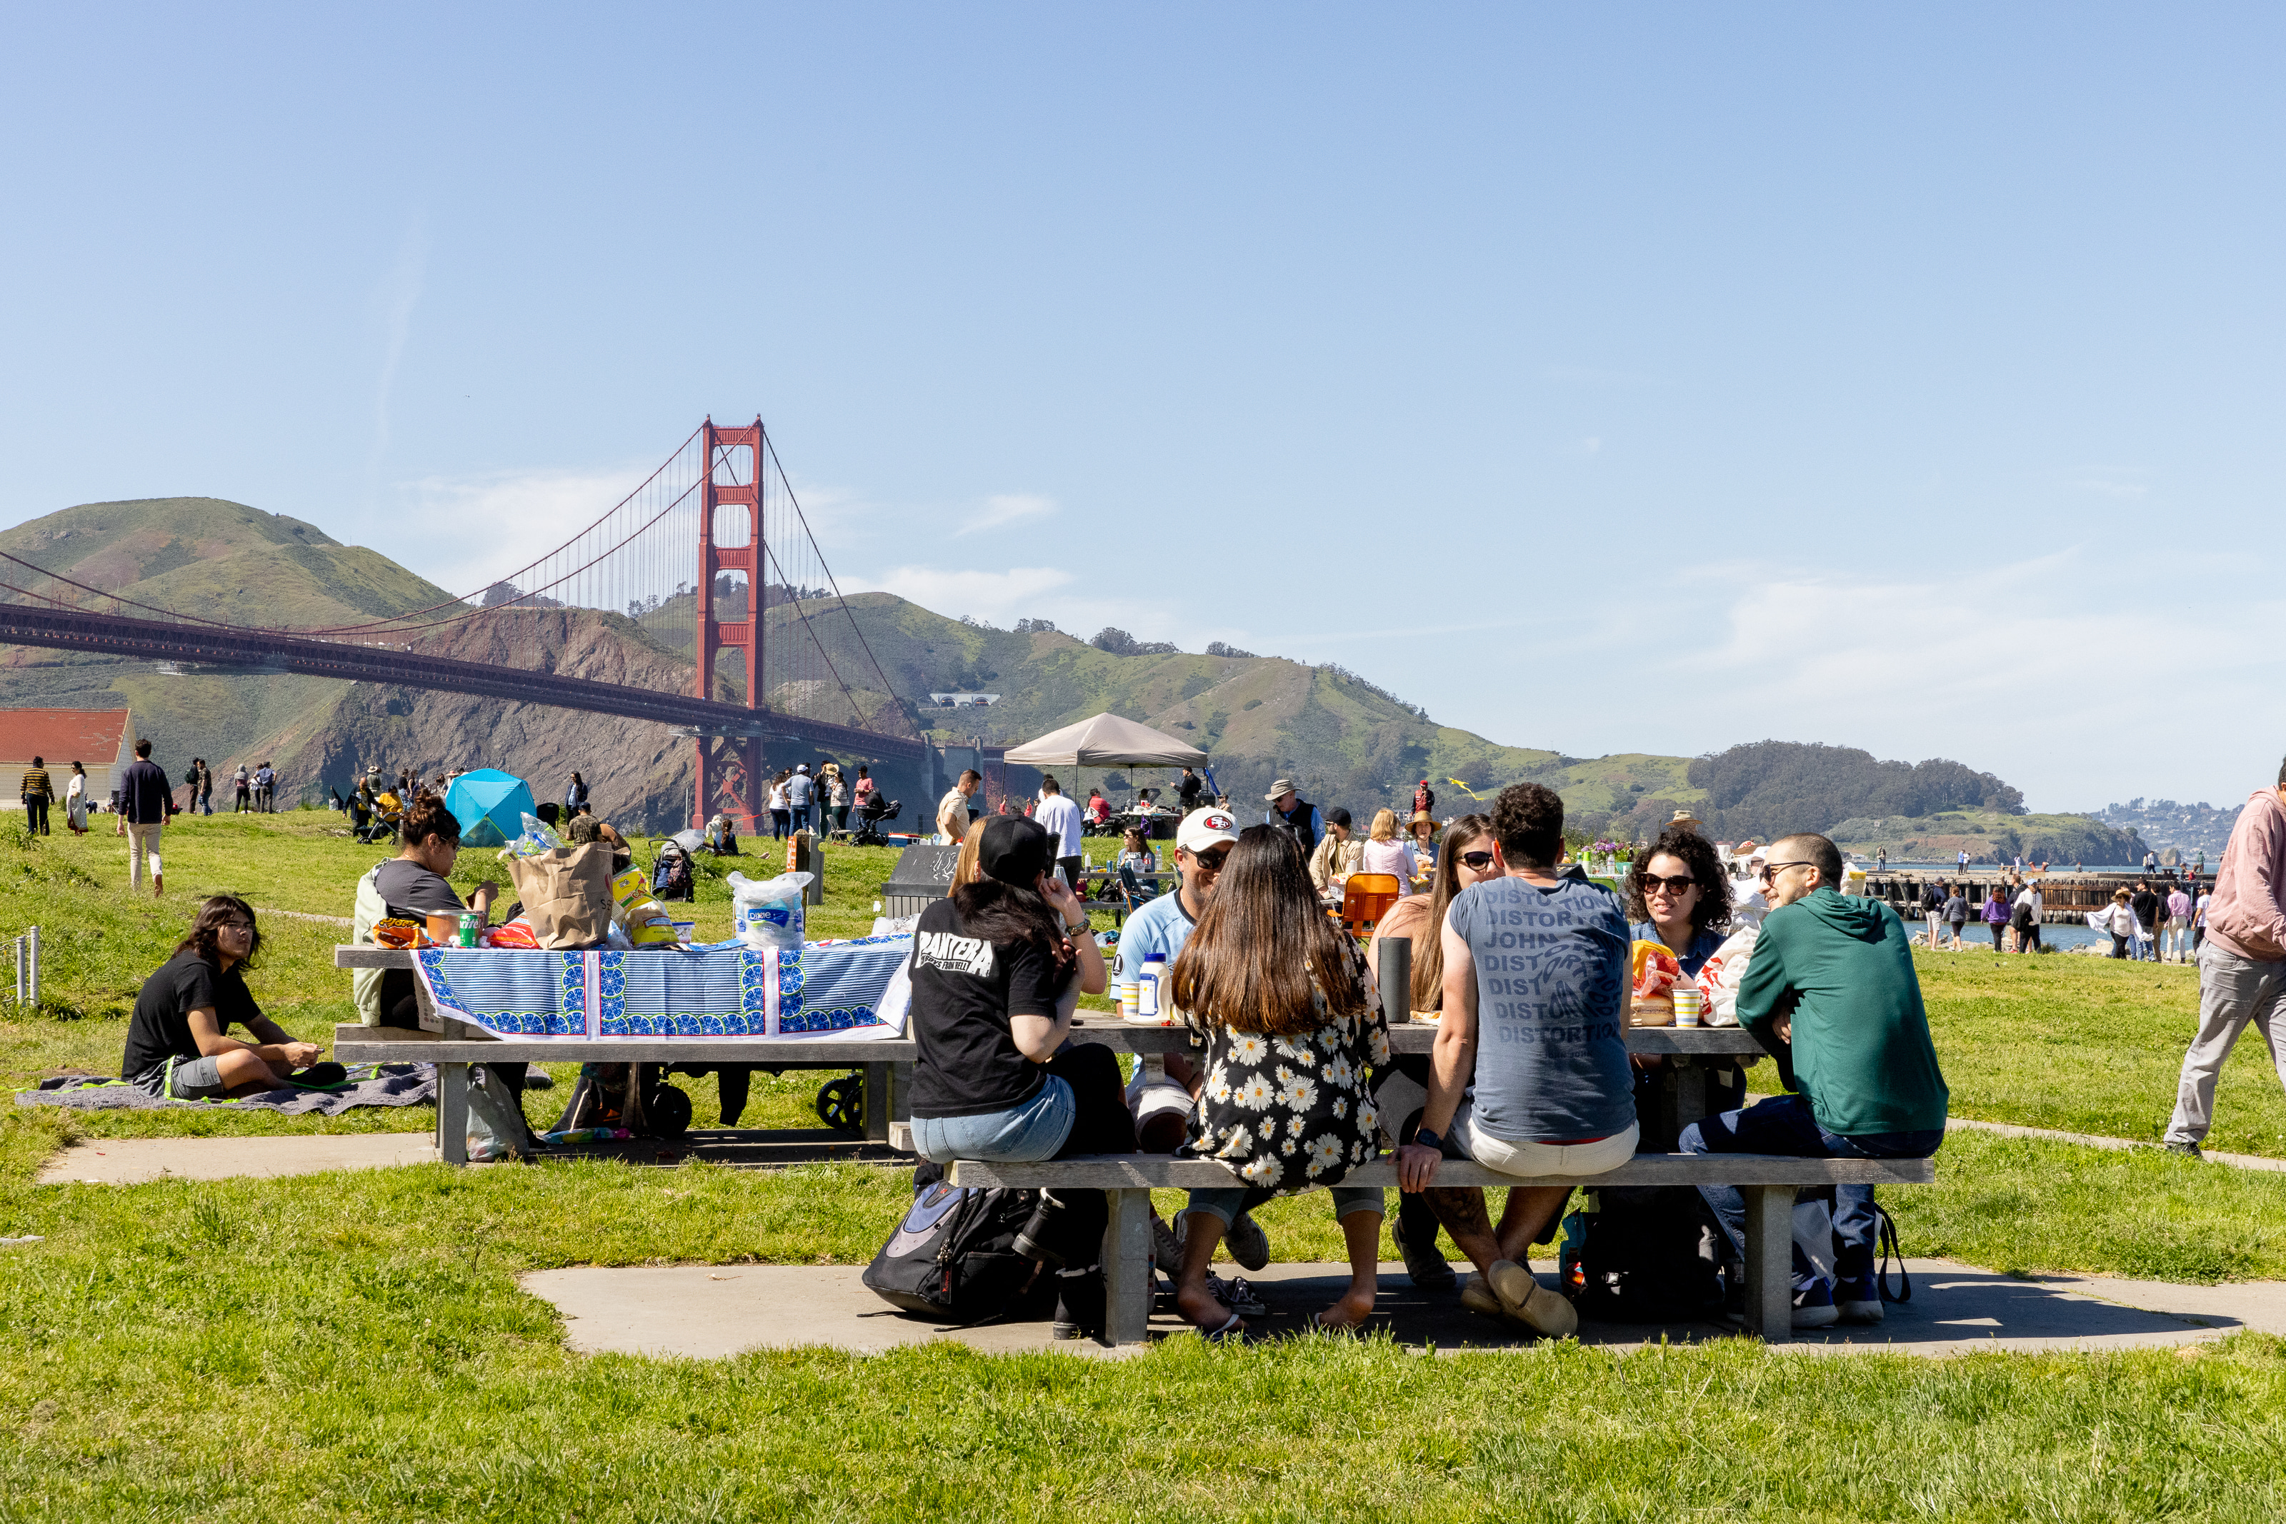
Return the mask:
M 981 1323 L 1029 1300 L 1036 1266 L 1015 1236 L 1040 1204 L 1038 1190 L 951 1186 L 933 1179 L 864 1270 L 873 1296 L 926 1318 Z M 1054 1282 L 1038 1277 L 1054 1296 Z

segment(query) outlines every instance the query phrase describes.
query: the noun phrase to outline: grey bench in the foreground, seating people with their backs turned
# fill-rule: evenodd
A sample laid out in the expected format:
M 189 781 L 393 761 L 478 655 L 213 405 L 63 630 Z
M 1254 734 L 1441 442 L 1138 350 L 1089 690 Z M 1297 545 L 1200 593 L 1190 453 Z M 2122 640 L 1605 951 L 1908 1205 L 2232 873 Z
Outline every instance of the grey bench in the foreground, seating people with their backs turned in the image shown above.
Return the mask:
M 946 1170 L 956 1186 L 1020 1186 L 1104 1190 L 1111 1225 L 1104 1229 L 1104 1330 L 1111 1343 L 1143 1343 L 1150 1334 L 1150 1193 L 1216 1190 L 1239 1179 L 1212 1158 L 1170 1154 L 1095 1154 L 1045 1163 L 978 1163 L 962 1158 Z M 1500 1174 L 1447 1158 L 1438 1186 L 1737 1186 L 1747 1197 L 1747 1332 L 1769 1343 L 1795 1337 L 1795 1190 L 1801 1186 L 1927 1186 L 1934 1158 L 1785 1158 L 1776 1154 L 1637 1154 L 1605 1174 Z M 1397 1161 L 1378 1158 L 1342 1177 L 1344 1186 L 1397 1184 Z

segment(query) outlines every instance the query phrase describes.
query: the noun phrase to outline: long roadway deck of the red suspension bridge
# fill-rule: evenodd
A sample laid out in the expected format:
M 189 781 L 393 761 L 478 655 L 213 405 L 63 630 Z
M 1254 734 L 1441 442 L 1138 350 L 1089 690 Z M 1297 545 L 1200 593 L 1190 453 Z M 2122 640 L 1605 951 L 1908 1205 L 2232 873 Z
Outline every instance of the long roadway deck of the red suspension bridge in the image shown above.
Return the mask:
M 878 736 L 855 724 L 807 720 L 743 704 L 720 704 L 695 695 L 654 692 L 626 683 L 597 683 L 553 672 L 523 672 L 519 667 L 423 656 L 400 644 L 354 644 L 277 631 L 167 624 L 165 619 L 89 615 L 34 603 L 0 603 L 0 644 L 103 651 L 146 660 L 229 663 L 270 672 L 334 676 L 352 683 L 391 683 L 398 688 L 441 688 L 446 692 L 473 692 L 514 704 L 553 704 L 594 715 L 697 727 L 706 733 L 761 733 L 807 740 L 834 752 L 873 759 L 919 761 L 924 754 L 921 740 Z

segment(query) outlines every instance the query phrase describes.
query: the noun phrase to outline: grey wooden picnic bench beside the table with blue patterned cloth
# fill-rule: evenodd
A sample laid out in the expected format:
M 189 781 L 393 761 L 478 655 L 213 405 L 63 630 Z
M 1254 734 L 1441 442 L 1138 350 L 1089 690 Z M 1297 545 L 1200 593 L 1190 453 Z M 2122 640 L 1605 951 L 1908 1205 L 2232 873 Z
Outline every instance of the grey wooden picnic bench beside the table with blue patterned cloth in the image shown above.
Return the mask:
M 411 969 L 402 948 L 336 946 L 336 969 Z M 832 1040 L 780 1037 L 501 1037 L 441 1014 L 427 987 L 414 980 L 421 1030 L 405 1026 L 336 1026 L 334 1058 L 352 1065 L 437 1065 L 437 1152 L 446 1163 L 469 1163 L 469 1065 L 482 1062 L 684 1062 L 754 1065 L 761 1069 L 864 1069 L 864 1136 L 889 1142 L 889 1124 L 910 1113 L 905 1085 L 921 1056 L 917 1042 L 896 1037 Z M 898 1142 L 898 1147 L 908 1147 Z

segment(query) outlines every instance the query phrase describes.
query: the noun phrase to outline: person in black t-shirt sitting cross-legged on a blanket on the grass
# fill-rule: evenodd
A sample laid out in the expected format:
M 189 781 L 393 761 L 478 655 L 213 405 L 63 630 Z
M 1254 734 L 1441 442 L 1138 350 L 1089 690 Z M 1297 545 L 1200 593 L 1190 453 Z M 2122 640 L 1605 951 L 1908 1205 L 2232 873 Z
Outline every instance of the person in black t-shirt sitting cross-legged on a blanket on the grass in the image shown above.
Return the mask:
M 135 996 L 119 1074 L 144 1094 L 174 1101 L 338 1085 L 343 1067 L 315 1062 L 325 1049 L 288 1037 L 247 994 L 245 969 L 261 951 L 251 905 L 233 893 L 201 905 L 174 957 Z M 233 1024 L 256 1042 L 226 1037 Z

